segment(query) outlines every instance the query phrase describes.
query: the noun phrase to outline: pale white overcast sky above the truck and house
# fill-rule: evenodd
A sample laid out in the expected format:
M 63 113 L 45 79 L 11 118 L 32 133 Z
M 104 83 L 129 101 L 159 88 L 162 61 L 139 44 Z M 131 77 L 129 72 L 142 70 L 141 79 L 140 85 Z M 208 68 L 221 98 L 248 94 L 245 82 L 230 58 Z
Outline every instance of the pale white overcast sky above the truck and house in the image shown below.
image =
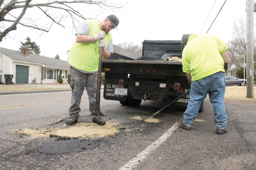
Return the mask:
M 89 6 L 81 8 L 81 12 L 86 11 L 84 14 L 86 18 L 96 16 L 97 20 L 103 20 L 109 14 L 116 15 L 119 18 L 118 30 L 111 31 L 115 45 L 124 41 L 141 45 L 144 40 L 180 40 L 183 34 L 204 34 L 209 28 L 208 33 L 227 42 L 232 39 L 234 22 L 246 20 L 246 0 L 227 0 L 224 6 L 225 0 L 109 0 L 109 2 L 127 2 L 127 4 L 124 8 L 111 11 Z M 43 17 L 39 18 L 38 23 L 44 23 Z M 65 20 L 64 26 L 65 28 L 53 25 L 48 33 L 18 26 L 17 30 L 10 32 L 6 39 L 0 42 L 0 47 L 19 50 L 20 41 L 25 42 L 28 36 L 40 46 L 40 55 L 54 58 L 58 54 L 61 60 L 67 60 L 66 52 L 75 41 L 76 30 L 72 27 L 70 19 Z

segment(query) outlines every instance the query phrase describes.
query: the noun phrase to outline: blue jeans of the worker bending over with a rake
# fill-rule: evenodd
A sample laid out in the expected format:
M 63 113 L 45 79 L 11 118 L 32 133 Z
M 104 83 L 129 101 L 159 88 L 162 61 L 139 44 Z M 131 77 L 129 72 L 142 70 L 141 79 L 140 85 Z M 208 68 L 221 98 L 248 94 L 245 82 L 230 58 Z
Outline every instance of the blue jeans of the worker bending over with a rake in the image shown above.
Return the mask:
M 217 72 L 210 76 L 191 82 L 190 100 L 183 114 L 183 124 L 192 126 L 198 114 L 201 103 L 209 93 L 213 105 L 214 121 L 218 129 L 225 129 L 227 114 L 225 112 L 224 94 L 226 91 L 224 72 Z

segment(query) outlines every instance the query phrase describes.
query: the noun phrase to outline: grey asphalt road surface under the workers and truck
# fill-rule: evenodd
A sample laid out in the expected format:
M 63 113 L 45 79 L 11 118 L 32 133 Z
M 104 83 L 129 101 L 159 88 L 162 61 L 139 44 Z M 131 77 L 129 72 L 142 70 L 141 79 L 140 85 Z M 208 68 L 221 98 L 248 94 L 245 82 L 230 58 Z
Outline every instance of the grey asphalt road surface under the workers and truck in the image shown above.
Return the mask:
M 168 103 L 147 101 L 134 108 L 101 98 L 100 109 L 107 116 L 100 129 L 116 131 L 91 137 L 54 135 L 52 129 L 73 127 L 65 124 L 70 95 L 0 95 L 0 169 L 256 169 L 255 105 L 226 103 L 229 132 L 219 135 L 208 98 L 190 131 L 178 127 L 183 111 L 176 108 L 167 108 L 151 122 L 136 119 Z M 75 133 L 98 127 L 88 116 L 86 93 L 81 106 Z

